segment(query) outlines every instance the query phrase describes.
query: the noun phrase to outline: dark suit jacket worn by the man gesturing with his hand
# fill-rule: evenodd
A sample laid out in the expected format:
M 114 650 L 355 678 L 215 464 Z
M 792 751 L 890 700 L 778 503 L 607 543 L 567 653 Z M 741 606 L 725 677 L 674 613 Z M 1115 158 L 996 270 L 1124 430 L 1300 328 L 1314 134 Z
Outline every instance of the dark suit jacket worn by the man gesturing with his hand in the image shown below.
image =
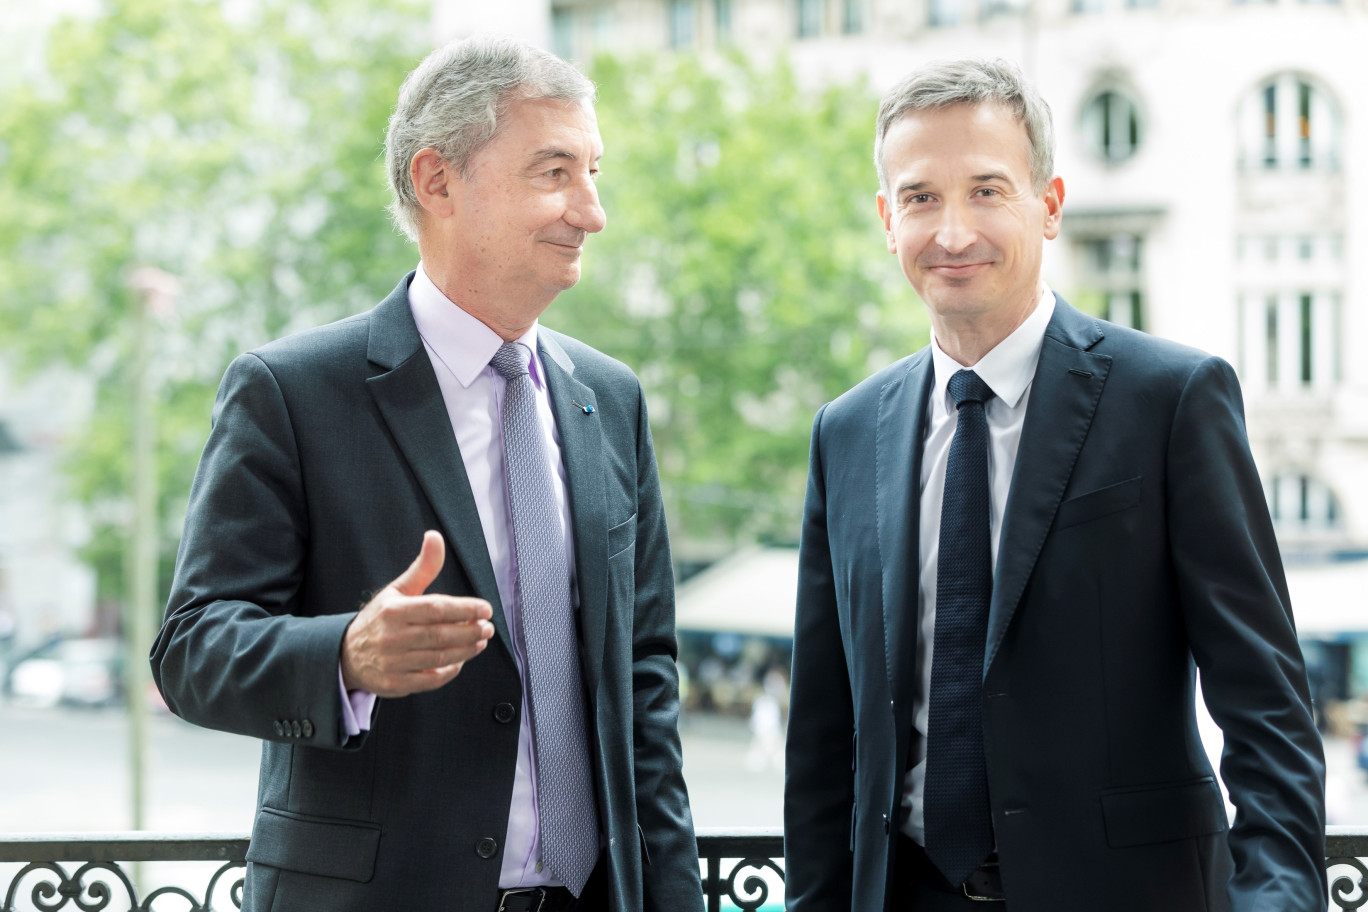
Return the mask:
M 368 313 L 237 358 L 192 488 L 152 667 L 178 715 L 265 742 L 245 909 L 494 904 L 521 685 L 410 279 Z M 538 336 L 566 469 L 613 908 L 702 909 L 642 390 L 620 362 Z M 447 541 L 430 591 L 487 599 L 495 637 L 445 688 L 378 700 L 369 733 L 343 745 L 343 632 L 430 528 Z

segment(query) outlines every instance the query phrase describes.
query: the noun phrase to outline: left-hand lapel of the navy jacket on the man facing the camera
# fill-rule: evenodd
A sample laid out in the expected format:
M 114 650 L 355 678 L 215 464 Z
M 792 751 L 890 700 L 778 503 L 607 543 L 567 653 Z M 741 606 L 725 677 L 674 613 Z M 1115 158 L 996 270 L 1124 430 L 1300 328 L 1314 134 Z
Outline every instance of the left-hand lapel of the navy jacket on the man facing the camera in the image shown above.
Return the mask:
M 897 732 L 912 723 L 912 671 L 917 655 L 918 531 L 921 528 L 922 438 L 930 395 L 930 350 L 914 354 L 906 373 L 880 391 L 874 444 L 874 503 L 882 563 L 884 649 Z M 902 734 L 899 737 L 903 737 Z

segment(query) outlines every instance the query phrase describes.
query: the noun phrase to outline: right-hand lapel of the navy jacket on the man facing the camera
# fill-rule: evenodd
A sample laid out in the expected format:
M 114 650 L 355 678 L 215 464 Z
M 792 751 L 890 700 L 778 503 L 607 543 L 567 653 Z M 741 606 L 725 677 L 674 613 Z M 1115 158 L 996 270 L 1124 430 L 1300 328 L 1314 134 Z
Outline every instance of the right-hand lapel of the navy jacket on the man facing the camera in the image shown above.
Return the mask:
M 1108 356 L 1089 351 L 1101 338 L 1097 320 L 1055 297 L 1055 314 L 1045 328 L 1012 485 L 1007 494 L 988 614 L 985 677 L 1036 569 L 1036 559 L 1045 546 L 1055 511 L 1093 424 L 1097 401 L 1111 371 Z

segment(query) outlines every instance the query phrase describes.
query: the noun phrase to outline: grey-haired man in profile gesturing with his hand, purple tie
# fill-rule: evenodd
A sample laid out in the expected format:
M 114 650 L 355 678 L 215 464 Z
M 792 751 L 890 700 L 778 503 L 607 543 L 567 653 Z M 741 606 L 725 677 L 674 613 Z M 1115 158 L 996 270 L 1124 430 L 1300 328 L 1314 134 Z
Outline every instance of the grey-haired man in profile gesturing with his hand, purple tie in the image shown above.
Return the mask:
M 244 908 L 702 909 L 642 390 L 538 324 L 605 224 L 592 85 L 447 45 L 386 146 L 421 263 L 228 368 L 152 652 L 265 741 Z

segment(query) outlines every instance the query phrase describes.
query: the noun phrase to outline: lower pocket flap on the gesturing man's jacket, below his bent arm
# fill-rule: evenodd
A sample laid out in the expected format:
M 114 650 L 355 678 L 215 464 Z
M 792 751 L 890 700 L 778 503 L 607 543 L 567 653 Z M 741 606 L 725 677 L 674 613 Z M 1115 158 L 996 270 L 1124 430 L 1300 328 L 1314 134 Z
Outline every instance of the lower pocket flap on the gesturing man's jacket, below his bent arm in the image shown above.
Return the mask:
M 252 827 L 248 861 L 274 868 L 367 883 L 375 874 L 380 827 L 261 808 Z

